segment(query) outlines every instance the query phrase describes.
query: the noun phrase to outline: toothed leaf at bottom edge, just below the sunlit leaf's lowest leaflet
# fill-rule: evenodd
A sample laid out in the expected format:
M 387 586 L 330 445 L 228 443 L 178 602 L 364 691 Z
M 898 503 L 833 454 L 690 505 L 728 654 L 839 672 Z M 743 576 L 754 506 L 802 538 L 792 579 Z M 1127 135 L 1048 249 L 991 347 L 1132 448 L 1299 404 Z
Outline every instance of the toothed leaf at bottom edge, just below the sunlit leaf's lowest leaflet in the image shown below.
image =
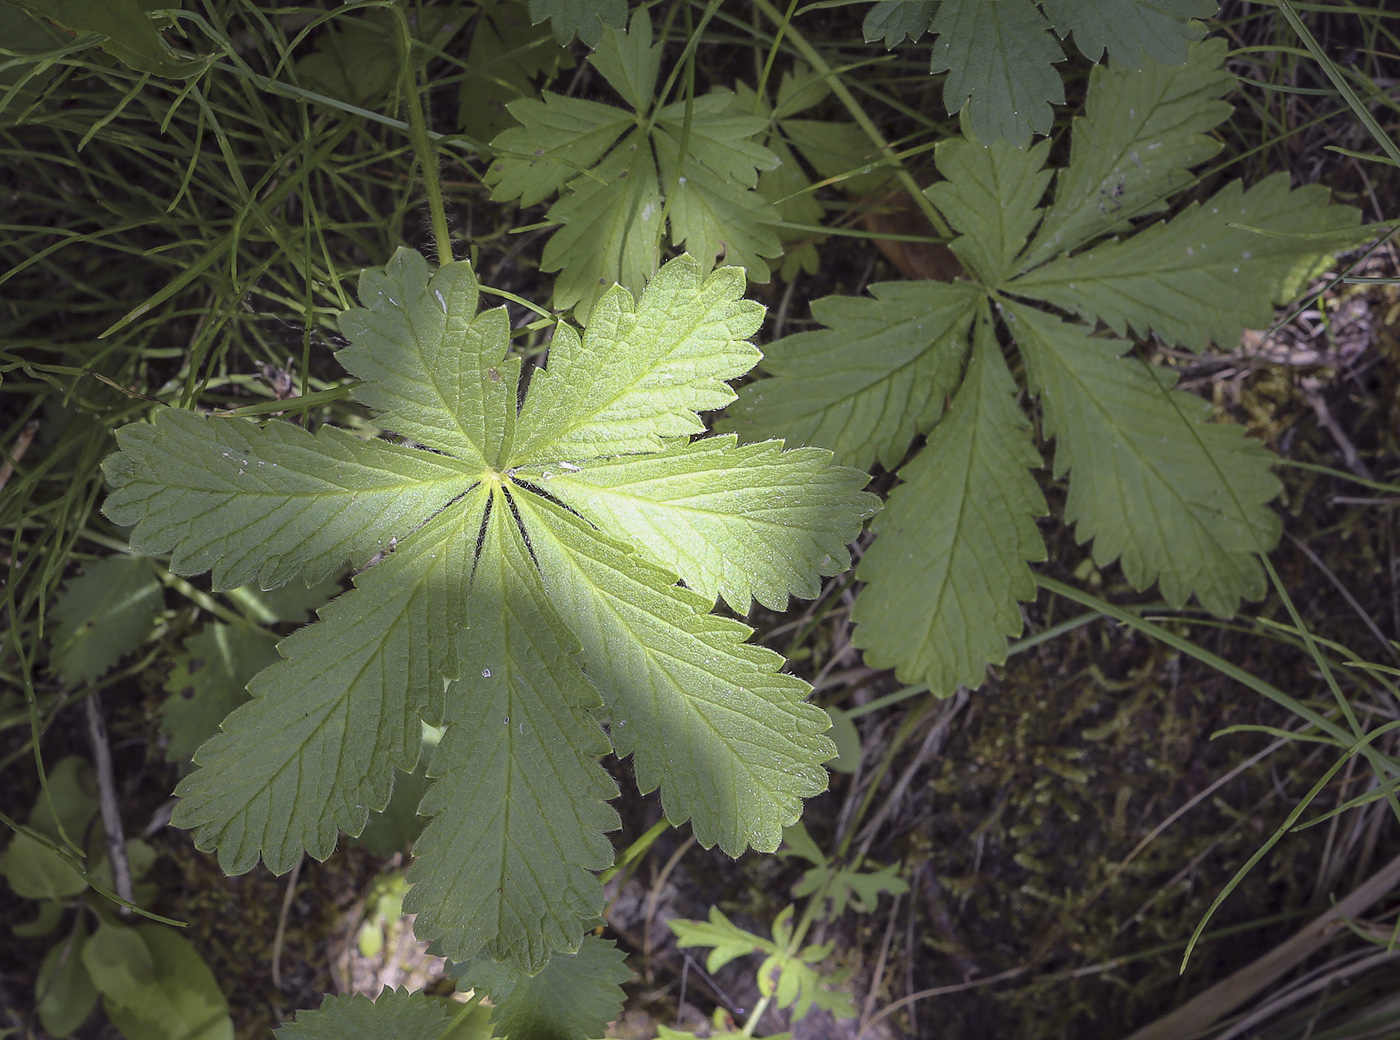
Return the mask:
M 568 1040 L 602 1036 L 622 1013 L 622 984 L 633 974 L 612 942 L 585 936 L 578 952 L 559 956 L 538 976 L 479 957 L 452 964 L 458 985 L 484 990 L 491 998 L 496 1036 Z

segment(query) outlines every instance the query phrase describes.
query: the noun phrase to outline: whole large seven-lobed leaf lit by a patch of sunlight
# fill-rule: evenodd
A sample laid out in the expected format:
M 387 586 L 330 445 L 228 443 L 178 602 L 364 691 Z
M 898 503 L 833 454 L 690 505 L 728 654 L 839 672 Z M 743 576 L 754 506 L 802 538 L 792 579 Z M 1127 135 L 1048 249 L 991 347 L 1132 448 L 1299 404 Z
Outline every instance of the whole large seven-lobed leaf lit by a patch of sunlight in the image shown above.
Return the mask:
M 447 725 L 407 908 L 447 956 L 526 973 L 602 908 L 609 750 L 703 844 L 776 848 L 825 787 L 827 715 L 711 610 L 813 595 L 878 503 L 823 449 L 692 441 L 759 360 L 743 287 L 689 256 L 640 300 L 615 287 L 518 406 L 504 308 L 477 309 L 469 265 L 399 251 L 363 276 L 339 358 L 423 447 L 178 410 L 119 430 L 106 512 L 178 572 L 270 586 L 382 556 L 279 645 L 175 823 L 230 872 L 325 858 L 413 768 L 421 722 Z

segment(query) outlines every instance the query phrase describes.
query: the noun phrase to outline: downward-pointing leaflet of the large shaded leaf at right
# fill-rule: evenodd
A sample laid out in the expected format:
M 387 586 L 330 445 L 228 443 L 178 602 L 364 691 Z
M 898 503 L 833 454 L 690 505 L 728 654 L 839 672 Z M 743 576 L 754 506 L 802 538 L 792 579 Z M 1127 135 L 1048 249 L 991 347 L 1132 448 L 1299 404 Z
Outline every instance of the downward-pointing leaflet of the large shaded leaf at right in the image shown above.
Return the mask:
M 979 686 L 1021 633 L 1018 600 L 1036 595 L 1028 563 L 1046 558 L 1035 518 L 1047 508 L 1015 392 L 984 311 L 962 388 L 899 472 L 855 572 L 867 585 L 851 610 L 854 642 L 903 682 Z

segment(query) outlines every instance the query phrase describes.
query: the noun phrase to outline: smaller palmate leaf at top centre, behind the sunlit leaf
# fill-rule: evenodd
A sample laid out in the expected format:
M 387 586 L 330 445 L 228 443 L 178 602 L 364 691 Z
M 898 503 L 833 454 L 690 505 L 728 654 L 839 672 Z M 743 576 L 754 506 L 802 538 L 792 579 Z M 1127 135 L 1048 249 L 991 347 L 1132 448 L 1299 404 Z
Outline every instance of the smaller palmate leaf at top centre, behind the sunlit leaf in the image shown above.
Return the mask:
M 491 141 L 486 174 L 498 202 L 560 196 L 540 265 L 559 272 L 554 307 L 588 321 L 608 286 L 641 288 L 666 241 L 767 281 L 766 258 L 783 246 L 771 227 L 778 214 L 756 190 L 759 172 L 778 165 L 757 141 L 766 120 L 718 88 L 662 104 L 661 43 L 645 10 L 626 34 L 605 29 L 591 63 L 627 108 L 550 91 L 514 101 L 507 108 L 521 126 Z

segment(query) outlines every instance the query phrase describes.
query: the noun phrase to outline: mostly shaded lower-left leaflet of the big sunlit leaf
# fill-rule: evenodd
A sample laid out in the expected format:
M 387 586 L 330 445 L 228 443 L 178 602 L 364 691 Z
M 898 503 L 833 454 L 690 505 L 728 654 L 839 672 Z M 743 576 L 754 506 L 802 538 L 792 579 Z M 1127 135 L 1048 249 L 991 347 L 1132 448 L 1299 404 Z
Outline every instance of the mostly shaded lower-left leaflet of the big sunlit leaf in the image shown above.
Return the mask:
M 484 512 L 482 490 L 441 514 L 356 579 L 321 620 L 279 645 L 284 661 L 249 684 L 252 700 L 195 756 L 172 823 L 218 848 L 227 873 L 259 854 L 274 873 L 302 851 L 325 859 L 389 801 L 412 770 L 420 714 L 440 717 L 458 670 L 462 575 Z

